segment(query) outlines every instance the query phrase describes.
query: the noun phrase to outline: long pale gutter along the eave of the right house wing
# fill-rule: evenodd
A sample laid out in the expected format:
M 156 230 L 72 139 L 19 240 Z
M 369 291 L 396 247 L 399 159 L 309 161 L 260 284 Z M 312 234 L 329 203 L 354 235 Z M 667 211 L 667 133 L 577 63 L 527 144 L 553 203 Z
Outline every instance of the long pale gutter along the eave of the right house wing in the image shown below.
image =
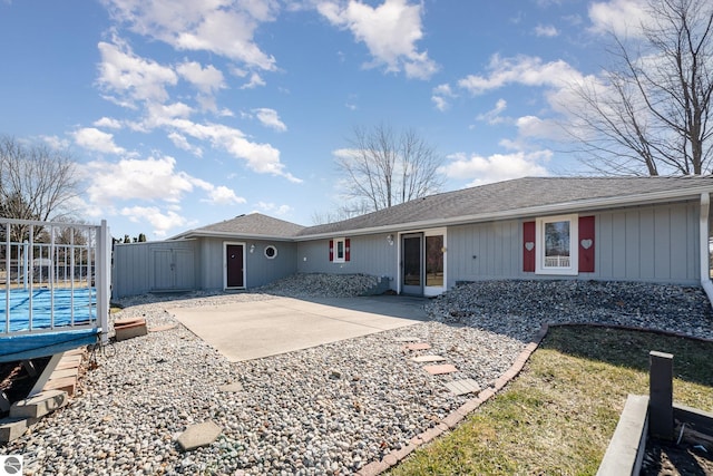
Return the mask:
M 501 212 L 456 216 L 452 218 L 423 220 L 418 222 L 397 223 L 397 224 L 390 224 L 390 225 L 372 226 L 367 229 L 342 230 L 342 231 L 325 232 L 325 233 L 318 233 L 318 234 L 307 234 L 307 235 L 295 236 L 292 240 L 310 241 L 315 239 L 333 237 L 336 235 L 354 236 L 354 235 L 365 235 L 365 234 L 375 234 L 375 233 L 391 233 L 391 232 L 399 232 L 404 230 L 419 230 L 419 229 L 429 229 L 429 227 L 436 227 L 436 226 L 462 225 L 467 223 L 520 218 L 525 216 L 535 216 L 535 215 L 544 215 L 544 214 L 560 214 L 560 213 L 574 212 L 577 210 L 592 211 L 592 210 L 599 210 L 599 208 L 609 208 L 615 206 L 649 205 L 653 203 L 661 203 L 661 202 L 668 202 L 668 201 L 697 198 L 701 194 L 707 195 L 712 191 L 712 188 L 713 187 L 707 185 L 707 186 L 675 190 L 675 191 L 653 192 L 653 193 L 645 193 L 645 194 L 637 194 L 637 195 L 592 198 L 592 200 L 576 201 L 576 202 L 563 202 L 563 203 L 550 204 L 550 205 L 538 205 L 538 206 L 530 206 L 526 208 L 506 210 Z M 707 237 L 706 237 L 706 242 L 707 242 Z

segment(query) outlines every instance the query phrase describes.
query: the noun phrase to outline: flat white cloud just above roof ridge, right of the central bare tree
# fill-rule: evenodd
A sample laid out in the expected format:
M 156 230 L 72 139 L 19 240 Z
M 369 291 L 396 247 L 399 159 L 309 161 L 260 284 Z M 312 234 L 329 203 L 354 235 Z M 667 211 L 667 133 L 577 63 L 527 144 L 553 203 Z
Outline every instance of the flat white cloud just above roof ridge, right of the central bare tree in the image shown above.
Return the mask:
M 448 157 L 451 162 L 439 171 L 450 178 L 472 179 L 468 185 L 476 186 L 510 178 L 548 175 L 543 163 L 549 161 L 551 155 L 550 150 L 492 154 L 488 157 L 455 154 Z

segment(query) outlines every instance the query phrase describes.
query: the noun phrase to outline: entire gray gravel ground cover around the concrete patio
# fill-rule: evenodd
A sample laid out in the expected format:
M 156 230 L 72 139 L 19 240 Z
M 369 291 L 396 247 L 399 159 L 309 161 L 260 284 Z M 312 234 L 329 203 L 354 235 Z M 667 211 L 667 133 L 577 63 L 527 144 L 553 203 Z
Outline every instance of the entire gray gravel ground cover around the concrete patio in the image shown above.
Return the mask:
M 169 307 L 272 299 L 266 292 L 314 297 L 324 280 L 299 275 L 261 293 L 173 297 Z M 329 276 L 333 289 L 358 294 L 355 280 L 361 278 Z M 143 315 L 149 328 L 177 324 L 166 299 L 125 300 L 117 317 Z M 407 445 L 466 401 L 445 382 L 491 385 L 543 322 L 616 323 L 713 339 L 711 308 L 699 288 L 486 282 L 459 285 L 429 300 L 427 310 L 430 322 L 237 363 L 180 324 L 117 342 L 97 353 L 98 367 L 69 407 L 3 453 L 23 455 L 30 473 L 47 475 L 345 475 Z M 432 348 L 407 351 L 408 339 Z M 428 375 L 410 360 L 424 353 L 446 357 L 459 371 Z M 237 391 L 221 391 L 225 383 L 237 383 Z M 182 453 L 177 436 L 206 420 L 221 426 L 218 439 Z

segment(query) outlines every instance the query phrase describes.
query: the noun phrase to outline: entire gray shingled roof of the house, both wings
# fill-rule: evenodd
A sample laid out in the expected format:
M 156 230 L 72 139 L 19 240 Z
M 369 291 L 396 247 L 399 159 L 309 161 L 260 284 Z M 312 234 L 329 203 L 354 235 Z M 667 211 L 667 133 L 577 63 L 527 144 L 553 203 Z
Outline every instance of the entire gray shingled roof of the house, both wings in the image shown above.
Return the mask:
M 335 223 L 302 226 L 260 213 L 240 215 L 174 239 L 255 236 L 310 240 L 334 234 L 445 226 L 535 214 L 570 213 L 713 192 L 713 177 L 525 177 L 430 195 Z

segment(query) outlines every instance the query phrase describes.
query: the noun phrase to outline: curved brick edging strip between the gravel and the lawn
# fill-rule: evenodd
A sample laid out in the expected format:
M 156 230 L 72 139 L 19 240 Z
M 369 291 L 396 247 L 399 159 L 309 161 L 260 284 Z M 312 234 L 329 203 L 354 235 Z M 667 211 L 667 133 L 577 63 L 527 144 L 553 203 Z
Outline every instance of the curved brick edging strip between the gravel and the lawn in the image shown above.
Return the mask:
M 682 332 L 673 332 L 673 331 L 663 331 L 657 329 L 646 329 L 646 328 L 636 328 L 631 326 L 614 326 L 614 324 L 600 324 L 593 322 L 563 322 L 563 323 L 551 323 L 551 324 L 543 324 L 539 332 L 535 338 L 528 343 L 525 349 L 520 352 L 520 354 L 515 359 L 515 362 L 510 368 L 502 373 L 491 387 L 486 388 L 480 391 L 477 397 L 468 399 L 463 405 L 458 407 L 456 410 L 451 411 L 446 418 L 443 418 L 438 425 L 427 429 L 426 431 L 420 433 L 419 435 L 411 438 L 409 444 L 399 450 L 391 451 L 387 454 L 380 462 L 369 463 L 367 466 L 356 472 L 356 476 L 375 476 L 385 472 L 387 469 L 398 465 L 402 459 L 418 449 L 420 446 L 426 445 L 432 439 L 441 436 L 446 431 L 450 431 L 455 429 L 460 421 L 462 421 L 470 412 L 475 411 L 482 404 L 492 398 L 498 391 L 502 390 L 502 388 L 508 385 L 510 380 L 517 377 L 527 363 L 528 359 L 537 350 L 539 344 L 541 343 L 545 336 L 549 331 L 550 327 L 568 327 L 568 326 L 583 326 L 590 328 L 607 328 L 607 329 L 618 329 L 618 330 L 627 330 L 627 331 L 638 331 L 638 332 L 652 332 L 662 336 L 671 336 L 671 337 L 680 337 L 685 339 L 693 339 L 702 342 L 713 342 L 713 339 L 704 339 L 700 337 L 688 336 Z

